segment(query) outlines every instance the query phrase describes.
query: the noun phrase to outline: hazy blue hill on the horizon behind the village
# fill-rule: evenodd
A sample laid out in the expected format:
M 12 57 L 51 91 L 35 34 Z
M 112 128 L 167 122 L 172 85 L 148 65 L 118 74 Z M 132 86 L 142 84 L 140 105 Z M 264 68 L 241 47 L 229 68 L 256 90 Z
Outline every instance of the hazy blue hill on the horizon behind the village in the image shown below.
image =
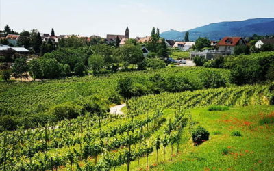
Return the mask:
M 274 18 L 256 18 L 245 21 L 221 22 L 190 29 L 190 40 L 197 40 L 199 37 L 207 37 L 210 40 L 219 40 L 225 36 L 261 36 L 274 34 Z M 171 29 L 160 34 L 167 40 L 184 40 L 186 31 Z

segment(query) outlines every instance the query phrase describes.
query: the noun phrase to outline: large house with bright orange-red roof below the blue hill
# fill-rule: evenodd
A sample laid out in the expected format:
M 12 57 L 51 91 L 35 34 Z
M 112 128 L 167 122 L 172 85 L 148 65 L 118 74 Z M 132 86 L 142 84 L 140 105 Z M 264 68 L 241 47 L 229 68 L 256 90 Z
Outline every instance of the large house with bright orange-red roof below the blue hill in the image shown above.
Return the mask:
M 245 40 L 240 37 L 225 37 L 219 42 L 219 51 L 229 51 L 234 54 L 237 45 L 245 45 Z

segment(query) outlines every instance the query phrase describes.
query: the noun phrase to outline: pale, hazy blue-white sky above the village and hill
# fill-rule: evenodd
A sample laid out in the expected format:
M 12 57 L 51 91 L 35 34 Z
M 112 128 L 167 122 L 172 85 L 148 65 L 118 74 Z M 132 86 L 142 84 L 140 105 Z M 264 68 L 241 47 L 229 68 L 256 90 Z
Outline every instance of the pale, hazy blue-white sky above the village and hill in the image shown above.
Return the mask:
M 0 29 L 81 36 L 148 36 L 221 21 L 274 18 L 273 0 L 0 0 Z

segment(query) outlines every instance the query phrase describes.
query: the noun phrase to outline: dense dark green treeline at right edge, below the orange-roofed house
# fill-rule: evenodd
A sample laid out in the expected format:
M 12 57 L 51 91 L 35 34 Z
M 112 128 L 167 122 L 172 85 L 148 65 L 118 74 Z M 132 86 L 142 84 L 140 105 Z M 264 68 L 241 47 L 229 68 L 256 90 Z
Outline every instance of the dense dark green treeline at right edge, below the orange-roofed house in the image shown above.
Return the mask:
M 231 70 L 232 82 L 238 85 L 274 80 L 274 51 L 217 56 L 214 60 L 195 57 L 193 60 L 198 66 Z

